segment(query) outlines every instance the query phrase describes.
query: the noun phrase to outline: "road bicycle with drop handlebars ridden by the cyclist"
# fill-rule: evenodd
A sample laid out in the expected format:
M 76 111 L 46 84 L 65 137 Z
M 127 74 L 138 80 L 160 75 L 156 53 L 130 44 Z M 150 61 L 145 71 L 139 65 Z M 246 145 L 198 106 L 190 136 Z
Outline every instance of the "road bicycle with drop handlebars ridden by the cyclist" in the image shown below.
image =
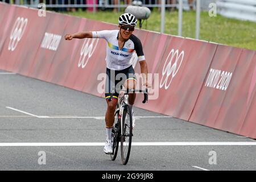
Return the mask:
M 113 152 L 110 156 L 112 160 L 117 158 L 120 142 L 122 163 L 126 165 L 130 156 L 131 138 L 133 137 L 133 115 L 128 105 L 129 93 L 144 93 L 143 104 L 147 102 L 148 94 L 147 89 L 122 89 L 121 87 L 120 91 L 123 92 L 123 94 L 119 94 L 117 109 L 115 109 L 115 121 L 112 129 Z M 113 94 L 110 95 L 110 100 L 112 97 Z

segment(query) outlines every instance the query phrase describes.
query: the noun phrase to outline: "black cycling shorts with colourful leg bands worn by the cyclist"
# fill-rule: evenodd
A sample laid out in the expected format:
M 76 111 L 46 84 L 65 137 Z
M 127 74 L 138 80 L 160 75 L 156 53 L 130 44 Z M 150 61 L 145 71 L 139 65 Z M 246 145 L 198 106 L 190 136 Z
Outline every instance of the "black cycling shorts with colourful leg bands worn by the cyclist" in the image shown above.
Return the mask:
M 133 66 L 122 69 L 112 70 L 106 68 L 106 82 L 105 82 L 105 98 L 110 99 L 110 94 L 113 93 L 113 99 L 118 99 L 120 86 L 124 84 L 126 80 L 136 80 Z

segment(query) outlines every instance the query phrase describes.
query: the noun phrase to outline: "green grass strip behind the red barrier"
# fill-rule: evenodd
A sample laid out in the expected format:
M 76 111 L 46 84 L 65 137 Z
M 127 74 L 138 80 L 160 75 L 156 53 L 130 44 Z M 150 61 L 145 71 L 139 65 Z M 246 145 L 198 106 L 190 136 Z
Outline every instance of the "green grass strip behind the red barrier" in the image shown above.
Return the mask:
M 65 12 L 67 13 L 67 12 Z M 69 15 L 101 20 L 118 24 L 118 17 L 123 11 L 113 13 L 112 11 L 89 11 L 68 12 Z M 177 35 L 178 12 L 166 11 L 165 34 Z M 143 23 L 142 28 L 160 32 L 161 15 L 158 10 L 151 12 L 150 18 Z M 147 26 L 146 26 L 147 24 Z M 183 34 L 184 37 L 195 38 L 196 12 L 183 12 Z M 137 24 L 138 27 L 138 24 Z M 217 15 L 210 17 L 208 12 L 201 12 L 200 39 L 210 42 L 226 44 L 256 50 L 256 23 L 237 19 L 225 18 Z

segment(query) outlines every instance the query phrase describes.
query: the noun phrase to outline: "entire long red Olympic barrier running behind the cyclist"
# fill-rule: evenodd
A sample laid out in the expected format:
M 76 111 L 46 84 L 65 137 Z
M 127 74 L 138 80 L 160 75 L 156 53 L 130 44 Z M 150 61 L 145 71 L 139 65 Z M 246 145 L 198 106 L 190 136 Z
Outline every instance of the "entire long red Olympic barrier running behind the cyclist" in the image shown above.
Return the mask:
M 104 97 L 104 39 L 64 40 L 68 32 L 117 25 L 0 3 L 0 69 Z M 136 30 L 155 100 L 135 106 L 256 138 L 256 51 Z M 134 55 L 135 72 L 140 66 Z M 158 90 L 159 88 L 159 90 Z M 101 92 L 100 92 L 101 90 Z M 158 92 L 157 92 L 158 90 Z

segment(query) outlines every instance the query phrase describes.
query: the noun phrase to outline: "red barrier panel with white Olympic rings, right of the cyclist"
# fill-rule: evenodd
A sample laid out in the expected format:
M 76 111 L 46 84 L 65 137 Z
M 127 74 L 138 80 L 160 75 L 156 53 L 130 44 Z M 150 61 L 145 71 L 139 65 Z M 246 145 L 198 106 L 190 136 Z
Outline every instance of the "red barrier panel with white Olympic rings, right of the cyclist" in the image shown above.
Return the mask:
M 139 107 L 187 120 L 195 106 L 217 44 L 171 36 L 158 68 L 159 97 Z M 156 60 L 155 60 L 156 61 Z M 156 107 L 158 105 L 159 107 Z

